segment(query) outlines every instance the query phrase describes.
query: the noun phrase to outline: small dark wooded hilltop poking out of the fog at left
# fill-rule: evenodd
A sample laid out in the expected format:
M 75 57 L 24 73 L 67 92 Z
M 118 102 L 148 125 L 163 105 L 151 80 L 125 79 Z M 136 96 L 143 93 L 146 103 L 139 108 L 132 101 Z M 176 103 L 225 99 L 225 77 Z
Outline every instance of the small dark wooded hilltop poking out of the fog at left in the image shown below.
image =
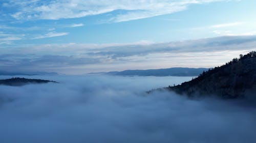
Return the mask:
M 2 79 L 0 80 L 0 85 L 9 85 L 9 86 L 22 86 L 26 84 L 38 84 L 38 83 L 48 83 L 48 82 L 54 82 L 57 83 L 56 81 L 51 81 L 51 80 L 42 80 L 42 79 L 27 79 L 27 78 L 10 78 L 10 79 Z

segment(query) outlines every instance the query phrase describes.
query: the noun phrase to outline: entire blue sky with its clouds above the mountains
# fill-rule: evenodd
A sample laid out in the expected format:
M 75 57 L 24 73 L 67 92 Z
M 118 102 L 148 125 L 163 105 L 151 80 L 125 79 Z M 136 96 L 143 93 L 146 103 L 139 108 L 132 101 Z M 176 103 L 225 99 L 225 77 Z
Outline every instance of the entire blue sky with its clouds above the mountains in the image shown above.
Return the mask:
M 254 50 L 256 1 L 0 1 L 1 71 L 215 67 Z

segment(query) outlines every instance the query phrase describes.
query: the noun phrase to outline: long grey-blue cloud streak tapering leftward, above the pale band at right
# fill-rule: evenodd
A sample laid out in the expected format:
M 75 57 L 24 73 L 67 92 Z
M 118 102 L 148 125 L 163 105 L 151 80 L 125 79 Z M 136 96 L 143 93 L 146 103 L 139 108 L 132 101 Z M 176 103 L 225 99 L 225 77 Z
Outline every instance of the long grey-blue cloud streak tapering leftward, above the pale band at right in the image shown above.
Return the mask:
M 123 45 L 113 46 L 97 49 L 98 52 L 91 52 L 88 54 L 96 55 L 109 55 L 113 58 L 132 56 L 132 55 L 145 55 L 150 53 L 181 53 L 181 52 L 211 52 L 221 50 L 242 50 L 246 49 L 245 43 L 250 43 L 248 49 L 253 47 L 256 42 L 255 36 L 239 37 L 239 36 L 227 36 L 208 39 L 178 41 L 169 43 L 155 43 L 149 45 Z M 242 47 L 244 46 L 244 47 Z

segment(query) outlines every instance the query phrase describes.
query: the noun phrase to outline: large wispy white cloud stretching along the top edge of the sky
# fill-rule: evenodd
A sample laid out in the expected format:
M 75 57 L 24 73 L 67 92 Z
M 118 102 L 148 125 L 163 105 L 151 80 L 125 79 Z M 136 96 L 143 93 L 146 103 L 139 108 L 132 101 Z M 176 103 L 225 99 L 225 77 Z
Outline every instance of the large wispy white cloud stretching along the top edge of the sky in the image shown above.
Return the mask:
M 10 1 L 4 7 L 16 7 L 11 16 L 20 19 L 62 19 L 99 15 L 113 11 L 122 11 L 110 18 L 111 22 L 129 21 L 185 10 L 191 4 L 220 2 L 222 0 L 193 1 Z M 224 1 L 224 0 L 223 0 Z

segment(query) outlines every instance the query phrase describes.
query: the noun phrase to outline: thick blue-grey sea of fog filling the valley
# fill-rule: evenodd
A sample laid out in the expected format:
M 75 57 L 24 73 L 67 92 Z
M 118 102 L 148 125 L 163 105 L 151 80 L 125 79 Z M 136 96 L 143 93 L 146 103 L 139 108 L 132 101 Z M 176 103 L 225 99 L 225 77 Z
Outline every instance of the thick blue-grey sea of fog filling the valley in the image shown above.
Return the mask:
M 192 77 L 19 77 L 59 83 L 0 85 L 1 143 L 256 142 L 253 106 L 145 93 Z

